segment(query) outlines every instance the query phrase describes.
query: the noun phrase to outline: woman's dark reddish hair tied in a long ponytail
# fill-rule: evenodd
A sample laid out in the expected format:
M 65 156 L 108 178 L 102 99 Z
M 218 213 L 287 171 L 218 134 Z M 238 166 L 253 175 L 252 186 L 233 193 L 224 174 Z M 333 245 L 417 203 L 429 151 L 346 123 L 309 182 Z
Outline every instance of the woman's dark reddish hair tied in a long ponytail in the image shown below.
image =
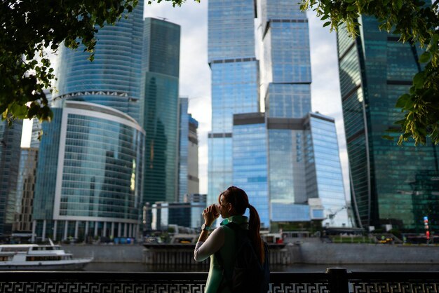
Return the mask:
M 230 203 L 236 214 L 244 214 L 245 210 L 248 208 L 250 210 L 250 219 L 248 223 L 248 234 L 250 240 L 252 241 L 253 247 L 255 247 L 256 253 L 259 256 L 259 261 L 261 264 L 264 263 L 265 252 L 264 252 L 264 244 L 261 240 L 261 235 L 259 234 L 259 230 L 261 229 L 261 220 L 259 219 L 259 214 L 255 207 L 250 205 L 248 202 L 248 196 L 243 189 L 240 189 L 236 186 L 230 186 L 228 189 L 219 194 L 218 201 L 221 196 L 224 196 L 224 199 L 227 203 Z

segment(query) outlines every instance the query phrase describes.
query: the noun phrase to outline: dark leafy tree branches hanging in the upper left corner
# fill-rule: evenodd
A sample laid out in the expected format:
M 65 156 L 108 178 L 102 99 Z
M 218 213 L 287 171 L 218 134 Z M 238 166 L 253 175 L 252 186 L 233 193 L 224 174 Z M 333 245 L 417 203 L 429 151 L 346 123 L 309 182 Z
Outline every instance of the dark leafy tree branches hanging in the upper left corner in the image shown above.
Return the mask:
M 162 0 L 155 0 L 161 2 Z M 184 0 L 164 0 L 180 6 Z M 194 0 L 199 1 L 199 0 Z M 93 61 L 95 33 L 128 17 L 138 0 L 2 0 L 0 3 L 0 113 L 2 120 L 53 116 L 43 93 L 55 78 L 46 50 L 80 43 Z M 151 4 L 152 1 L 147 1 Z

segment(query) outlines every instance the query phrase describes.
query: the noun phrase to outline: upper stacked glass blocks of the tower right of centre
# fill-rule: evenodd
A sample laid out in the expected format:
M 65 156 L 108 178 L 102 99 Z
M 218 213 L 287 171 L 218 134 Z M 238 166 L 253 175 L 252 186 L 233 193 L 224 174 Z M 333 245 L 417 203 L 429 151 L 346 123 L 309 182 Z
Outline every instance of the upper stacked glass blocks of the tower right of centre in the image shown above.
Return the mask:
M 263 79 L 269 117 L 302 118 L 311 111 L 311 59 L 306 13 L 289 0 L 262 1 Z

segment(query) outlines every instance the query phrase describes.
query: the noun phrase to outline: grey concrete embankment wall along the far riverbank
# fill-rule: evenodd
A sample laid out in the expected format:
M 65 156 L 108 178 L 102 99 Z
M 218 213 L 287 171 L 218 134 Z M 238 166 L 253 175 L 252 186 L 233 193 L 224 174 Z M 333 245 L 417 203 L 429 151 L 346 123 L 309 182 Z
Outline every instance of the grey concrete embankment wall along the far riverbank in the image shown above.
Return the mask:
M 317 240 L 317 239 L 316 239 Z M 64 245 L 74 257 L 94 257 L 95 262 L 148 263 L 151 252 L 142 245 Z M 171 252 L 172 253 L 172 252 Z M 192 252 L 186 252 L 191 257 Z M 277 264 L 439 264 L 439 246 L 321 243 L 302 241 L 288 244 L 278 253 Z M 163 259 L 163 258 L 158 258 Z M 174 259 L 167 257 L 166 259 Z

